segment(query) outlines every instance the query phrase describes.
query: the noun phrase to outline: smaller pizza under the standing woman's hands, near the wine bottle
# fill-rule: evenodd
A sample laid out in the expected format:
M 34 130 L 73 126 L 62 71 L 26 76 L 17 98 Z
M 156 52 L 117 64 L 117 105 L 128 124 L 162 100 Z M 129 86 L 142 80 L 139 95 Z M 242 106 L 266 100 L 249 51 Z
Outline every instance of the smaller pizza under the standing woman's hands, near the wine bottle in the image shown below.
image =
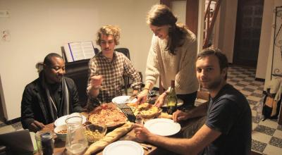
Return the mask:
M 137 116 L 137 114 L 140 114 L 140 116 L 144 119 L 156 118 L 161 113 L 161 109 L 149 103 L 127 105 L 133 109 L 135 116 Z

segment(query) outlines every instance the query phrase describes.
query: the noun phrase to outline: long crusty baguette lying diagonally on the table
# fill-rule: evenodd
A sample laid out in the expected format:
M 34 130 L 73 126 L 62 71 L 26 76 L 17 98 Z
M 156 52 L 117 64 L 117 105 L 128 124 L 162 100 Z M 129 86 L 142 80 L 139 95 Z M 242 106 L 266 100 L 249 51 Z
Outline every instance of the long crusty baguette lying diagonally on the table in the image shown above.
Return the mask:
M 133 124 L 128 122 L 125 123 L 120 128 L 116 128 L 112 132 L 109 132 L 105 135 L 105 137 L 102 140 L 99 140 L 98 142 L 95 142 L 90 145 L 90 147 L 85 152 L 86 155 L 93 154 L 96 151 L 99 151 L 101 149 L 104 149 L 108 144 L 111 144 L 112 142 L 115 142 L 120 137 L 128 133 L 133 128 Z

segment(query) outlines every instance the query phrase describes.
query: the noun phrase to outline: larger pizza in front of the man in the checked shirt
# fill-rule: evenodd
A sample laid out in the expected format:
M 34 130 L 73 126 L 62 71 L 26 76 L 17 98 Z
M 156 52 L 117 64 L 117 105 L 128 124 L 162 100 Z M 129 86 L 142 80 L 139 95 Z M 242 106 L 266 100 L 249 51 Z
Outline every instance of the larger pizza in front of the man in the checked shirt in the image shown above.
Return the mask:
M 114 128 L 126 122 L 126 116 L 114 104 L 102 104 L 88 115 L 90 123 Z

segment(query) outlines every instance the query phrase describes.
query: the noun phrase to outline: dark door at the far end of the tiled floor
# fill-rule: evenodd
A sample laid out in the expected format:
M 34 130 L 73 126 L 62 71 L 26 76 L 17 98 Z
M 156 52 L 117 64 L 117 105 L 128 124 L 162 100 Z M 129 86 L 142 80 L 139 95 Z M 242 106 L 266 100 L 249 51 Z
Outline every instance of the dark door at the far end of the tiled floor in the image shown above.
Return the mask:
M 264 0 L 238 0 L 233 63 L 257 66 Z

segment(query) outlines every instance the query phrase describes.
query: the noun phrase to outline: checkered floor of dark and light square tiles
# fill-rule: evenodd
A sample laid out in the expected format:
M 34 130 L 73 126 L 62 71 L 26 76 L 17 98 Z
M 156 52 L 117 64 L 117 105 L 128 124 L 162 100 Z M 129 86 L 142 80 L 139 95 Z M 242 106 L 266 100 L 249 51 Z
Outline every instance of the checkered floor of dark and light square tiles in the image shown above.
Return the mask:
M 228 70 L 228 83 L 247 97 L 252 109 L 252 150 L 261 154 L 282 154 L 282 126 L 277 120 L 256 118 L 257 105 L 262 98 L 264 82 L 255 81 L 255 68 L 233 66 Z M 200 100 L 198 100 L 200 101 Z M 202 102 L 202 101 L 200 101 Z M 20 123 L 5 125 L 0 120 L 0 133 L 22 130 Z

